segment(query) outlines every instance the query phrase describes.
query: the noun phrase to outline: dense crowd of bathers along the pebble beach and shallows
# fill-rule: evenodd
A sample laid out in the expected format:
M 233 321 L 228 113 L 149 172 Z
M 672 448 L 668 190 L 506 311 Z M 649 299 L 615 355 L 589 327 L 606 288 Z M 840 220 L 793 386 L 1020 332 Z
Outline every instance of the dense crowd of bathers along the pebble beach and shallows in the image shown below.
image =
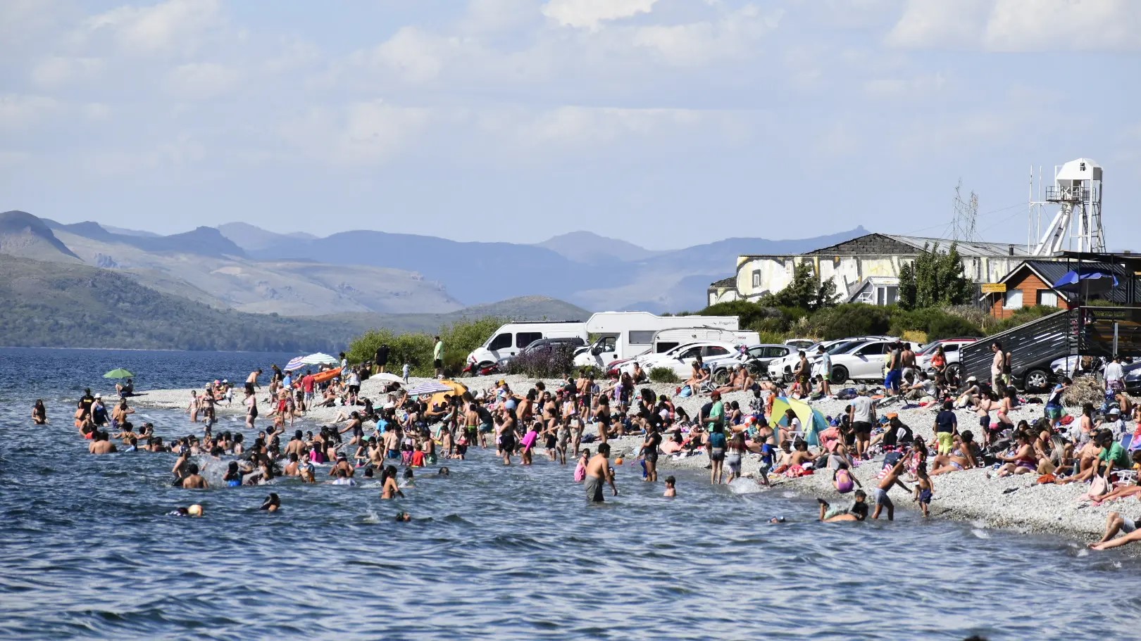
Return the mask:
M 213 431 L 216 406 L 233 403 L 235 387 L 227 380 L 207 384 L 201 393 L 193 392 L 187 414 L 192 423 L 204 425 L 202 436 L 188 435 L 168 444 L 154 433 L 151 423 L 136 431 L 131 422 L 135 411 L 126 396 L 107 404 L 90 390 L 78 404 L 75 427 L 91 441 L 92 454 L 120 448 L 176 454 L 172 482 L 195 489 L 219 482 L 262 485 L 277 477 L 317 482 L 319 473 L 334 485 L 373 479 L 381 488 L 381 498 L 390 500 L 403 495 L 414 469 L 436 465 L 442 459 L 463 460 L 471 447 L 494 448 L 504 465 L 516 459 L 531 465 L 535 449 L 542 448 L 541 455 L 551 462 L 575 462 L 575 480 L 584 485 L 590 501 L 600 502 L 606 487 L 614 495 L 618 493 L 610 441 L 634 436 L 634 455 L 647 482 L 658 481 L 661 456 L 696 454 L 707 456 L 710 481 L 714 485 L 742 478 L 746 459 L 756 461 L 754 480 L 763 486 L 771 485 L 771 474 L 794 478 L 828 473 L 836 493 L 851 493 L 853 497 L 850 504 L 839 508 L 822 500 L 819 518 L 830 522 L 868 516 L 875 519 L 884 512 L 893 519 L 895 504 L 889 496 L 893 488 L 909 493 L 928 516 L 936 492 L 932 479 L 972 468 L 988 469 L 987 476 L 992 471 L 997 477 L 1033 473 L 1039 482 L 1085 482 L 1087 497 L 1095 504 L 1141 496 L 1141 486 L 1131 474 L 1141 465 L 1141 451 L 1126 451 L 1120 439 L 1126 431 L 1122 406 L 1135 422 L 1141 421 L 1141 407 L 1132 404 L 1124 391 L 1114 397 L 1118 403 L 1109 403 L 1110 407 L 1099 412 L 1086 405 L 1079 420 L 1069 422 L 1058 411 L 1069 384 L 1063 379 L 1049 395 L 1041 419 L 1015 423 L 1011 413 L 1027 399 L 1003 379 L 1001 363 L 992 381 L 969 378 L 953 386 L 937 375 L 928 386 L 914 360 L 906 356 L 908 346 L 901 343 L 898 349 L 899 355 L 889 358 L 898 358 L 899 376 L 891 375 L 889 368 L 884 393 L 873 397 L 866 386 L 840 390 L 837 395 L 851 395 L 850 403 L 820 430 L 806 425 L 792 408 L 774 413 L 774 404 L 780 398 L 812 401 L 832 391 L 814 390 L 803 367 L 788 390 L 779 382 L 755 381 L 747 373 L 737 374 L 735 379 L 739 380 L 731 380 L 730 390 L 725 392 L 707 387 L 707 403 L 690 416 L 670 395 L 656 393 L 649 386 L 639 389 L 634 375 L 600 381 L 586 371 L 550 388 L 537 381 L 521 392 L 500 380 L 489 389 L 446 395 L 437 404 L 427 397 L 410 397 L 402 386 L 393 383 L 373 403 L 361 395 L 361 381 L 380 367 L 350 366 L 347 360 L 339 367 L 330 365 L 326 371 L 335 370 L 330 372 L 335 375 L 321 378 L 319 382 L 321 370 L 286 372 L 274 365 L 266 390 L 259 386 L 262 371 L 251 372 L 243 390 L 245 427 L 257 433 L 251 443 L 240 431 Z M 1006 358 L 997 347 L 996 355 L 996 363 L 1000 357 Z M 698 368 L 695 365 L 695 371 Z M 908 381 L 920 381 L 922 389 L 908 389 L 916 384 Z M 892 395 L 893 389 L 899 393 Z M 723 393 L 742 390 L 748 392 L 747 400 L 722 400 Z M 911 391 L 922 396 L 909 396 Z M 885 401 L 899 397 L 930 406 L 930 444 L 898 413 L 884 412 Z M 293 429 L 294 421 L 317 405 L 340 411 L 331 424 L 308 431 Z M 261 415 L 259 407 L 266 408 L 272 420 L 260 430 L 256 423 Z M 978 415 L 978 432 L 961 428 L 956 408 Z M 42 401 L 37 401 L 32 417 L 38 423 L 47 421 Z M 286 436 L 289 432 L 292 435 Z M 881 455 L 876 487 L 871 488 L 869 498 L 852 470 Z M 225 471 L 211 481 L 203 474 L 202 464 Z M 446 468 L 440 470 L 446 472 Z M 666 496 L 675 495 L 675 484 L 674 477 L 666 479 Z M 1114 513 L 1104 539 L 1097 545 L 1133 541 L 1135 525 Z M 1125 536 L 1112 538 L 1118 533 Z

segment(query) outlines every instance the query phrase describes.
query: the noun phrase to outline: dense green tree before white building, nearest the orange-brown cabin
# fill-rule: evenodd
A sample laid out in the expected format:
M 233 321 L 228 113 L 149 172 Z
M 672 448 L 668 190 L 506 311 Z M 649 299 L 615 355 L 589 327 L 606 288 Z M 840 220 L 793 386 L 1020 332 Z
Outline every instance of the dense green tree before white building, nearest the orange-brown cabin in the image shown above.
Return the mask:
M 924 244 L 915 261 L 899 269 L 899 306 L 904 309 L 965 305 L 972 292 L 954 242 L 945 252 L 939 251 L 939 243 Z

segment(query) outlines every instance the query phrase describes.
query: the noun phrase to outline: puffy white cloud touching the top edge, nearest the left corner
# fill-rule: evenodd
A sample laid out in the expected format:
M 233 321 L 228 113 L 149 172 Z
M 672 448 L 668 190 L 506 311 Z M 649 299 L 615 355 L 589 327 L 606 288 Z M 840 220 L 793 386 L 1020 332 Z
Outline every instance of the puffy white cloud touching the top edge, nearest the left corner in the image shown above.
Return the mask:
M 201 34 L 220 23 L 218 0 L 167 0 L 149 7 L 124 6 L 87 21 L 89 32 L 108 32 L 135 54 L 187 52 Z

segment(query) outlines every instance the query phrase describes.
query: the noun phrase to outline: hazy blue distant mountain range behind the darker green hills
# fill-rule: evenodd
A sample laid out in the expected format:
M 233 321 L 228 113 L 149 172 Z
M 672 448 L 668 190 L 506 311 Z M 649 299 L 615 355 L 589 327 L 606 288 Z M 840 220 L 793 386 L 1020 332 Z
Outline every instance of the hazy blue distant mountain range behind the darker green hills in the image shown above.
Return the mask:
M 655 251 L 591 232 L 520 244 L 375 230 L 317 237 L 232 222 L 163 236 L 0 213 L 0 254 L 105 270 L 215 310 L 321 317 L 326 324 L 333 315 L 353 319 L 353 326 L 383 316 L 424 327 L 447 315 L 503 315 L 519 300 L 527 301 L 529 318 L 696 310 L 705 306 L 709 284 L 731 274 L 739 254 L 800 253 L 863 234 L 857 227 L 802 240 L 733 237 Z M 39 268 L 41 277 L 47 271 Z

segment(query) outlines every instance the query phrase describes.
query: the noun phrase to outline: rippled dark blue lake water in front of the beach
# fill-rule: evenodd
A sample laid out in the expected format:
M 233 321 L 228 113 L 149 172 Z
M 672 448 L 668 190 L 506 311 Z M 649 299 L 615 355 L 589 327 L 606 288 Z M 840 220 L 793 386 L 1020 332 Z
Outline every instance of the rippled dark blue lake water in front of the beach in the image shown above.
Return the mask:
M 292 479 L 192 493 L 170 487 L 173 455 L 91 456 L 70 420 L 113 367 L 191 388 L 292 356 L 0 349 L 0 638 L 1070 640 L 1141 620 L 1141 562 L 1059 538 L 911 511 L 820 525 L 811 498 L 697 476 L 670 501 L 636 466 L 588 505 L 569 466 L 479 451 L 396 502 Z M 167 439 L 192 431 L 139 413 Z M 257 510 L 270 489 L 276 514 Z M 204 518 L 165 516 L 193 502 Z

